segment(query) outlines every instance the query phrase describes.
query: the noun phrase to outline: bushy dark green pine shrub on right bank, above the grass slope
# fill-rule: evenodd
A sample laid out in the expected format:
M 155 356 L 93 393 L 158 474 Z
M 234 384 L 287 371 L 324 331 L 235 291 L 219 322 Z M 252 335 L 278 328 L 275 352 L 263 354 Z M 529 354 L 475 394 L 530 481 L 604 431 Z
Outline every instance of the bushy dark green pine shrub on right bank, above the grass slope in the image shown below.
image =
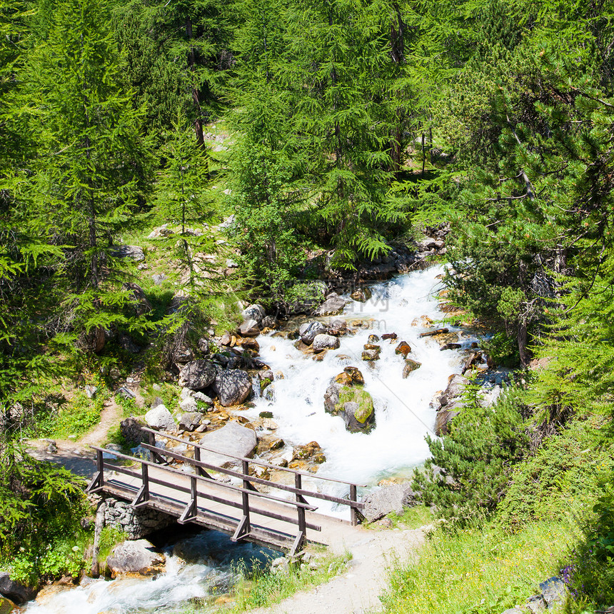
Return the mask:
M 529 449 L 526 410 L 511 390 L 483 408 L 465 397 L 460 414 L 443 438 L 427 436 L 432 458 L 414 473 L 423 503 L 458 523 L 491 515 L 508 489 L 510 471 Z M 433 473 L 433 465 L 441 468 Z

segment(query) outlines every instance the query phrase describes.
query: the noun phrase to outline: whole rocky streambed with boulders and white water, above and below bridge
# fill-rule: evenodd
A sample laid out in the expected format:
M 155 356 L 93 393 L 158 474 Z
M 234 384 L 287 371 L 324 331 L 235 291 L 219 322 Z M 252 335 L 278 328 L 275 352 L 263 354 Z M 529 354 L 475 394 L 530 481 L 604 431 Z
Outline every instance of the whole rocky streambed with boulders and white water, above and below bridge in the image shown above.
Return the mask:
M 359 494 L 376 504 L 370 520 L 381 516 L 382 503 L 400 507 L 408 500 L 403 480 L 428 456 L 425 436 L 445 432 L 462 404 L 463 372 L 490 373 L 480 350 L 483 331 L 463 322 L 460 313 L 442 311 L 441 273 L 441 267 L 433 266 L 360 288 L 352 296 L 333 293 L 313 316 L 284 323 L 249 306 L 237 330 L 213 343 L 203 341 L 203 357 L 183 363 L 177 411 L 171 413 L 156 399 L 144 418 L 124 421 L 126 438 L 138 443 L 146 424 L 159 431 L 161 448 L 189 453 L 186 443 L 199 442 L 280 468 L 254 465 L 261 478 L 288 483 L 293 476 L 281 468 L 290 467 L 314 478 L 367 484 Z M 451 322 L 445 322 L 446 315 Z M 500 376 L 492 379 L 485 403 L 500 390 Z M 141 453 L 138 446 L 134 451 Z M 218 455 L 207 460 L 226 466 L 233 462 Z M 347 487 L 326 484 L 303 480 L 306 488 L 346 495 Z M 348 514 L 321 500 L 313 503 L 322 513 Z M 225 540 L 229 556 L 253 555 L 253 546 L 217 539 Z M 74 597 L 52 596 L 42 608 L 32 606 L 33 611 L 66 611 L 66 603 L 103 608 L 83 605 L 84 613 L 178 611 L 173 608 L 181 602 L 211 595 L 216 578 L 227 580 L 230 573 L 226 563 L 208 555 L 206 542 L 201 546 L 196 561 L 167 551 L 166 571 L 156 571 L 154 580 L 119 578 L 82 586 L 71 590 Z M 137 589 L 131 588 L 136 582 L 145 587 L 138 589 L 138 604 Z

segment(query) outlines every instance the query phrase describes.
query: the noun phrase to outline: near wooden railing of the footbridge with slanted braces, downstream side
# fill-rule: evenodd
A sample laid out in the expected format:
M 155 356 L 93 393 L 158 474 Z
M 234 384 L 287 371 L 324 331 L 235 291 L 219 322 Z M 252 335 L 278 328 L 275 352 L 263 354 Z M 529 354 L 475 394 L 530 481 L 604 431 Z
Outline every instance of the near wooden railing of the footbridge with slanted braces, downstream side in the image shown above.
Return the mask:
M 121 473 L 123 475 L 128 475 L 131 478 L 136 478 L 137 480 L 141 481 L 141 488 L 139 488 L 136 493 L 136 496 L 134 497 L 134 500 L 132 500 L 131 502 L 131 506 L 134 508 L 139 508 L 144 505 L 149 505 L 149 503 L 151 503 L 152 484 L 170 488 L 173 491 L 188 493 L 188 504 L 183 509 L 183 512 L 178 518 L 179 523 L 188 523 L 198 518 L 199 498 L 211 500 L 215 503 L 221 503 L 223 505 L 229 505 L 233 508 L 241 509 L 242 517 L 239 520 L 236 530 L 231 537 L 231 539 L 234 541 L 240 540 L 241 538 L 245 538 L 248 535 L 251 529 L 250 513 L 258 513 L 259 515 L 264 515 L 268 518 L 280 520 L 284 523 L 298 525 L 298 534 L 296 535 L 296 539 L 291 548 L 291 553 L 296 553 L 296 551 L 301 548 L 304 540 L 306 540 L 306 530 L 308 528 L 316 531 L 321 530 L 321 527 L 319 525 L 309 523 L 306 520 L 306 511 L 314 511 L 317 509 L 316 506 L 311 505 L 306 501 L 288 500 L 276 497 L 274 495 L 269 495 L 268 493 L 261 493 L 260 491 L 256 490 L 256 488 L 254 488 L 253 485 L 251 485 L 251 483 L 249 483 L 249 481 L 246 479 L 249 477 L 247 473 L 243 475 L 237 472 L 233 472 L 245 478 L 243 479 L 243 487 L 240 487 L 215 480 L 215 478 L 212 478 L 211 475 L 208 475 L 208 473 L 206 473 L 207 469 L 218 470 L 216 465 L 204 463 L 201 460 L 183 457 L 180 454 L 171 453 L 169 451 L 165 451 L 167 456 L 171 456 L 173 458 L 176 458 L 177 460 L 183 460 L 184 462 L 191 461 L 191 464 L 195 466 L 197 470 L 202 470 L 204 475 L 201 473 L 188 474 L 184 471 L 168 467 L 166 465 L 161 465 L 160 463 L 154 463 L 151 460 L 145 460 L 144 458 L 135 458 L 134 456 L 128 456 L 126 454 L 122 454 L 116 451 L 106 450 L 105 448 L 99 448 L 98 446 L 91 447 L 96 451 L 97 472 L 88 486 L 87 490 L 90 493 L 96 493 L 105 489 L 113 490 L 113 488 L 116 488 L 116 486 L 118 485 L 118 480 L 111 480 L 110 482 L 107 482 L 105 479 L 104 471 L 110 470 L 115 471 L 116 473 Z M 144 444 L 144 447 L 149 449 L 153 446 Z M 156 449 L 159 451 L 159 448 Z M 121 465 L 116 465 L 115 463 L 105 462 L 104 453 L 109 453 L 110 455 L 113 455 L 120 460 L 129 460 L 133 463 L 138 462 L 141 464 L 141 470 L 134 470 Z M 156 468 L 156 470 L 158 471 L 162 470 L 164 473 L 171 475 L 174 478 L 181 476 L 182 480 L 188 479 L 190 485 L 182 485 L 181 480 L 168 481 L 159 478 L 156 475 L 152 475 L 152 472 L 150 472 L 151 468 Z M 208 493 L 206 492 L 206 490 L 198 490 L 198 483 L 215 483 L 215 485 L 218 487 L 225 488 L 229 491 L 233 491 L 234 493 L 240 493 L 241 503 L 229 497 L 220 497 L 213 493 Z M 121 482 L 119 482 L 119 485 L 121 485 Z M 271 509 L 256 508 L 253 506 L 250 500 L 251 497 L 260 498 L 263 500 L 270 500 L 275 503 L 282 503 L 283 505 L 288 505 L 290 507 L 296 508 L 296 518 L 282 515 Z M 160 495 L 158 495 L 158 498 L 161 498 Z

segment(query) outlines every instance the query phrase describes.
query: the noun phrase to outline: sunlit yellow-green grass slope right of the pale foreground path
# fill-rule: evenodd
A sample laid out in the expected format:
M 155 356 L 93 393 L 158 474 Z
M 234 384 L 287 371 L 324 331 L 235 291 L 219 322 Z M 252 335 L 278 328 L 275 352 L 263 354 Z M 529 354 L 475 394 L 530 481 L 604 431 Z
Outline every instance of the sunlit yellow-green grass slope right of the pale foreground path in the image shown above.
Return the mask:
M 500 614 L 538 592 L 569 560 L 580 529 L 537 522 L 518 533 L 498 525 L 436 530 L 418 563 L 397 565 L 383 595 L 387 613 Z

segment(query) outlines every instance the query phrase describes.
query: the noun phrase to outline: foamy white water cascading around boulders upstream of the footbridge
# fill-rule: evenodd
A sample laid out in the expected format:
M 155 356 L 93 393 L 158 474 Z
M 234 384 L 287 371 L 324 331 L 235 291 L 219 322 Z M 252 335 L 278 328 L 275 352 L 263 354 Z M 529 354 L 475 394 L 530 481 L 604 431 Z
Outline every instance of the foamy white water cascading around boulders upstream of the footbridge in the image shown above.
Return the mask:
M 381 478 L 408 473 L 422 463 L 429 455 L 425 437 L 433 435 L 435 422 L 435 411 L 429 403 L 436 391 L 446 388 L 448 376 L 458 373 L 461 365 L 460 351 L 441 351 L 433 339 L 419 337 L 431 326 L 412 326 L 421 316 L 428 316 L 434 323 L 443 320 L 437 301 L 441 289 L 437 276 L 442 272 L 442 267 L 433 266 L 371 286 L 373 296 L 369 301 L 351 301 L 343 315 L 336 317 L 348 322 L 372 320 L 373 328 L 341 337 L 341 347 L 329 351 L 321 362 L 294 348 L 293 341 L 258 337 L 261 360 L 274 373 L 281 371 L 284 378 L 276 378 L 273 402 L 258 399 L 256 409 L 248 416 L 273 412 L 273 420 L 279 425 L 276 434 L 291 445 L 317 441 L 327 459 L 318 475 L 373 485 Z M 396 333 L 397 338 L 377 342 L 382 348 L 379 361 L 362 361 L 363 346 L 373 333 L 380 337 Z M 403 356 L 395 354 L 400 341 L 407 341 L 412 348 L 408 358 L 422 363 L 406 379 L 402 378 Z M 463 347 L 471 341 L 475 340 L 465 336 Z M 348 365 L 361 370 L 365 390 L 373 397 L 376 427 L 368 434 L 349 433 L 343 418 L 324 411 L 326 388 Z M 326 504 L 317 504 L 320 511 L 327 511 Z

